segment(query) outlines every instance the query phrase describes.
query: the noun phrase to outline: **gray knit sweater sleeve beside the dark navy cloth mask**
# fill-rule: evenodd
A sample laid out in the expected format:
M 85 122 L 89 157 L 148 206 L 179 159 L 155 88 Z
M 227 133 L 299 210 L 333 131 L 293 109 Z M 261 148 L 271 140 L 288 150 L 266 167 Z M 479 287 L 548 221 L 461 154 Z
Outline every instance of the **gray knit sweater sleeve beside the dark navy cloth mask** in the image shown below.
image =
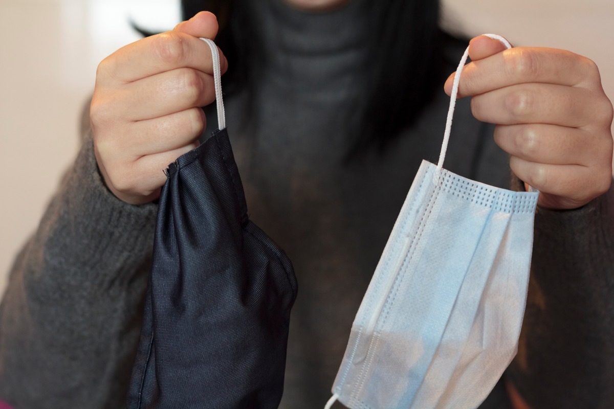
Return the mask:
M 0 401 L 120 408 L 139 337 L 157 206 L 104 186 L 86 137 L 0 305 Z

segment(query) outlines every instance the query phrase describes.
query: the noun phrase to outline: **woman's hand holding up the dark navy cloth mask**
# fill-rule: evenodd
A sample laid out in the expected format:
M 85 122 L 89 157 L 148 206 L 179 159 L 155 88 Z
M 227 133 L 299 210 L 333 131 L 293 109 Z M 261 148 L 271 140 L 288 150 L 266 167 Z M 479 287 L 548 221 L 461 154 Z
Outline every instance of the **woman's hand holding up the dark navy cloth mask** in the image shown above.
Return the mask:
M 90 119 L 96 161 L 115 196 L 144 204 L 160 196 L 163 170 L 198 146 L 201 107 L 215 100 L 211 49 L 216 17 L 198 13 L 173 31 L 105 58 L 96 71 Z M 227 61 L 220 52 L 222 73 Z

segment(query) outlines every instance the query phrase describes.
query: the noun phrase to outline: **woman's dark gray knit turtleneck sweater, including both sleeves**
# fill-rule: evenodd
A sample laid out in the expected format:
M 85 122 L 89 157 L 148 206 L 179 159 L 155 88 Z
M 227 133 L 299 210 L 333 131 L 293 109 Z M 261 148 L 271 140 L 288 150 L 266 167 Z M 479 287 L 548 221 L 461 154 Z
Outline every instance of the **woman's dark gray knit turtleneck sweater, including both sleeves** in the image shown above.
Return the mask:
M 266 74 L 246 126 L 243 96 L 227 99 L 228 130 L 251 218 L 289 254 L 300 288 L 281 408 L 323 407 L 419 163 L 437 159 L 449 100 L 435 96 L 383 155 L 344 164 L 352 69 L 368 58 L 361 3 L 322 15 L 257 3 Z M 462 49 L 448 52 L 451 72 Z M 468 101 L 457 105 L 445 167 L 509 184 L 492 126 L 473 119 Z M 0 400 L 18 409 L 124 405 L 156 211 L 109 193 L 85 132 L 10 272 L 0 307 Z M 613 189 L 578 210 L 538 210 L 531 274 L 508 376 L 537 408 L 614 407 Z M 483 407 L 505 405 L 499 385 Z

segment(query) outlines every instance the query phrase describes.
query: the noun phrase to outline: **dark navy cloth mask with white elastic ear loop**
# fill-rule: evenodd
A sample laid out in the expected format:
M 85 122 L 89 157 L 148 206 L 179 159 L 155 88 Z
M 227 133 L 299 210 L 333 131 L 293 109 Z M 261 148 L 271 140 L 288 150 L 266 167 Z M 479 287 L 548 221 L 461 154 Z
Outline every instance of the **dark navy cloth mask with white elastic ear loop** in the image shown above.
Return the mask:
M 247 216 L 225 129 L 171 164 L 160 194 L 128 408 L 277 408 L 297 282 Z

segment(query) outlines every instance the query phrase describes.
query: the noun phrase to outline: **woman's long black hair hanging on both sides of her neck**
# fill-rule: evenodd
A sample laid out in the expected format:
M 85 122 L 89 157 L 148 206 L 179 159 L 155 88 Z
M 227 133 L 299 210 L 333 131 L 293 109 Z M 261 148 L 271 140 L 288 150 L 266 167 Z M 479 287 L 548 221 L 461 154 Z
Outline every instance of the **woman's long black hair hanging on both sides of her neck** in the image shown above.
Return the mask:
M 225 93 L 250 87 L 258 78 L 249 62 L 258 53 L 258 33 L 241 3 L 250 0 L 182 0 L 184 20 L 201 10 L 215 13 L 216 42 L 228 59 Z M 420 115 L 441 86 L 442 42 L 437 0 L 372 0 L 368 52 L 373 64 L 356 78 L 364 92 L 349 119 L 351 154 L 375 145 L 383 148 Z M 248 69 L 249 67 L 249 69 Z M 249 107 L 249 102 L 248 102 Z

